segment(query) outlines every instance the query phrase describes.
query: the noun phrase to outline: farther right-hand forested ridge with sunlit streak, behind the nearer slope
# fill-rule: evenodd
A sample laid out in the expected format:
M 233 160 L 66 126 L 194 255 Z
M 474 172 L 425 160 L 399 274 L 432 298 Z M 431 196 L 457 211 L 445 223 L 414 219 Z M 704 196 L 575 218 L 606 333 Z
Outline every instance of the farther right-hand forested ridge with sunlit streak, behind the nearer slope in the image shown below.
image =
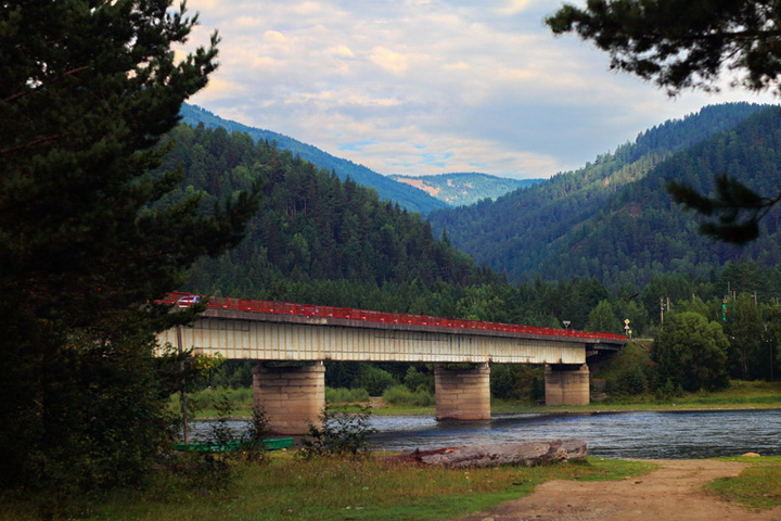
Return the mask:
M 494 202 L 482 201 L 472 206 L 436 211 L 428 215 L 428 219 L 435 233 L 447 229 L 453 245 L 473 255 L 479 264 L 507 272 L 511 280 L 528 280 L 535 276 L 548 279 L 584 276 L 597 277 L 605 283 L 618 283 L 616 278 L 644 283 L 649 280 L 650 270 L 653 270 L 653 262 L 644 263 L 646 268 L 638 272 L 619 274 L 600 269 L 601 264 L 607 263 L 604 256 L 581 259 L 577 250 L 569 251 L 567 247 L 584 249 L 585 243 L 574 238 L 588 236 L 593 219 L 606 212 L 604 208 L 617 204 L 616 194 L 627 187 L 640 182 L 674 154 L 720 132 L 729 134 L 769 106 L 772 105 L 728 103 L 703 107 L 682 119 L 665 122 L 641 132 L 633 143 L 620 145 L 614 153 L 602 154 L 578 170 L 558 174 Z M 701 179 L 697 182 L 699 186 L 706 185 Z M 654 193 L 644 192 L 644 196 L 666 196 L 663 182 L 657 182 L 655 190 Z M 648 201 L 636 202 L 642 205 Z M 637 211 L 631 208 L 626 206 L 626 213 Z M 692 227 L 689 240 L 693 241 L 696 236 L 693 219 L 688 226 Z M 654 237 L 653 226 L 646 226 L 642 233 Z M 610 247 L 606 241 L 603 241 L 602 247 Z M 593 253 L 593 249 L 590 251 Z M 665 252 L 643 255 L 663 258 Z M 631 262 L 623 265 L 625 269 L 635 266 Z

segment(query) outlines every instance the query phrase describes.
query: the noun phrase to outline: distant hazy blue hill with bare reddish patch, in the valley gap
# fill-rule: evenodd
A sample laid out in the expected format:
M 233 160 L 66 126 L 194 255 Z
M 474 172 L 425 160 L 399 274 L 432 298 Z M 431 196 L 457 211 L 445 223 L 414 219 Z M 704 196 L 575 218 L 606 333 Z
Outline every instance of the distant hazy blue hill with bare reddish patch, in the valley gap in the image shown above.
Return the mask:
M 439 174 L 437 176 L 388 176 L 419 188 L 450 206 L 465 206 L 483 199 L 497 199 L 515 189 L 529 187 L 541 179 L 510 179 L 478 173 Z

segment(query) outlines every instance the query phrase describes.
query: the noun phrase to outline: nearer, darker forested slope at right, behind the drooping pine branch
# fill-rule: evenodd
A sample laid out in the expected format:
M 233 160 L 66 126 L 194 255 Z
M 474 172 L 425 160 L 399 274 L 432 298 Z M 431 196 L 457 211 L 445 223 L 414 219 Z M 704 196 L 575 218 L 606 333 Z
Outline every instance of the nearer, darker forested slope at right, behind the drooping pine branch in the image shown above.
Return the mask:
M 708 278 L 728 260 L 781 264 L 780 212 L 761 223 L 756 241 L 733 246 L 702 236 L 695 216 L 665 190 L 668 179 L 714 190 L 714 175 L 729 174 L 758 193 L 774 195 L 781 180 L 781 110 L 771 107 L 733 129 L 675 154 L 644 178 L 627 185 L 545 260 L 554 277 L 577 272 L 601 280 L 643 282 L 660 272 Z M 553 259 L 555 258 L 555 263 Z

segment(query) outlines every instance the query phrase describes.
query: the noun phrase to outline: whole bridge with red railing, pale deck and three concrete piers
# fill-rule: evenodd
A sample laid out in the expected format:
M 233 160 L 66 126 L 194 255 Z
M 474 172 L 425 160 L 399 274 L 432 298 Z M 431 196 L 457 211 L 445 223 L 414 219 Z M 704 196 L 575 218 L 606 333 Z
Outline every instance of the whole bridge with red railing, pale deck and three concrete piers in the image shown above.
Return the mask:
M 165 302 L 188 306 L 200 298 L 171 293 Z M 255 361 L 254 402 L 272 431 L 287 434 L 317 423 L 325 405 L 324 360 L 436 364 L 437 419 L 482 420 L 490 418 L 490 363 L 545 365 L 547 404 L 588 404 L 587 358 L 615 353 L 627 341 L 613 333 L 228 297 L 210 297 L 191 327 L 158 340 Z M 476 367 L 446 366 L 461 363 Z

